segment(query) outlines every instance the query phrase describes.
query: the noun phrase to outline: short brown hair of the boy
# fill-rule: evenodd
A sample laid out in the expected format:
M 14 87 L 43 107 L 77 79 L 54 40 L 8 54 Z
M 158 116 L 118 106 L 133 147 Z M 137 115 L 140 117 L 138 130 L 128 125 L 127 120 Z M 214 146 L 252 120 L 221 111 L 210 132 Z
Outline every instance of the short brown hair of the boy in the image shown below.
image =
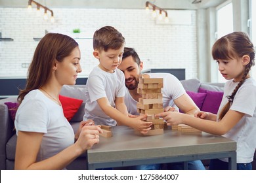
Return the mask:
M 93 35 L 93 49 L 105 52 L 108 49 L 117 50 L 125 44 L 125 38 L 117 29 L 105 26 L 95 31 Z

